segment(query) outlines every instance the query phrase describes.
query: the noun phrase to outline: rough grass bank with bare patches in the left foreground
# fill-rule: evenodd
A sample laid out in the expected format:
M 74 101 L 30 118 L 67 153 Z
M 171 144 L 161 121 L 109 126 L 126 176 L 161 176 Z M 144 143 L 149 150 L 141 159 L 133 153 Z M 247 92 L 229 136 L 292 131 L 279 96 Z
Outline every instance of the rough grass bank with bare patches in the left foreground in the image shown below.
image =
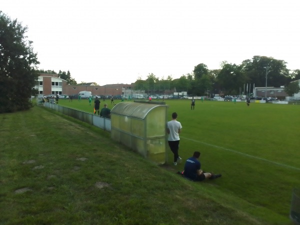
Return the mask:
M 95 127 L 42 107 L 0 116 L 1 224 L 260 223 Z

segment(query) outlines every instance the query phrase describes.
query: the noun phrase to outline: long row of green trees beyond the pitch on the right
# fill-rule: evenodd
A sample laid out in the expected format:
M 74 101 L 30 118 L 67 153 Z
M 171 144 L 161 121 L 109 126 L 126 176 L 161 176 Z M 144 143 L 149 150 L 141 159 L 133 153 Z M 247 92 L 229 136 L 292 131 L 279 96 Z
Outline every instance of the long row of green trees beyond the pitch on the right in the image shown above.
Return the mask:
M 299 91 L 296 82 L 290 81 L 300 79 L 300 69 L 289 70 L 284 60 L 273 57 L 254 55 L 252 59 L 243 60 L 241 64 L 232 64 L 223 61 L 220 69 L 209 70 L 207 65 L 200 63 L 194 66 L 191 73 L 183 74 L 180 78 L 173 79 L 171 75 L 167 78 L 156 77 L 149 73 L 147 78 L 140 77 L 135 81 L 135 90 L 143 90 L 148 93 L 166 93 L 187 91 L 190 95 L 248 95 L 254 86 L 280 87 L 285 86 L 289 95 Z M 245 90 L 245 84 L 251 84 L 251 90 Z M 292 93 L 291 93 L 292 92 Z

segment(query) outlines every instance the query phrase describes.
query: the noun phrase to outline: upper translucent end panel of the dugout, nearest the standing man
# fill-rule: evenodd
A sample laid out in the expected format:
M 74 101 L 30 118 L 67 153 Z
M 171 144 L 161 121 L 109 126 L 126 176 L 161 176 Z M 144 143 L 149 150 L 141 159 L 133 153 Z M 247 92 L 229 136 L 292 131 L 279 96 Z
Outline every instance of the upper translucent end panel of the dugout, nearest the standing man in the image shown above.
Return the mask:
M 163 136 L 165 135 L 165 107 L 153 108 L 146 117 L 146 136 Z

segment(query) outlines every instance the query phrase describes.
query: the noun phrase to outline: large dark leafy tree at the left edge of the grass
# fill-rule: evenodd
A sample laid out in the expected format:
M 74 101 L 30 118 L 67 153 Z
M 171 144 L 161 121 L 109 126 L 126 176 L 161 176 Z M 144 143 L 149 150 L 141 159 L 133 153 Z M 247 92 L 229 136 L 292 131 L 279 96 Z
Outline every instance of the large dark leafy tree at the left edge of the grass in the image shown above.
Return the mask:
M 24 36 L 27 27 L 0 11 L 0 112 L 29 109 L 37 94 L 36 53 Z

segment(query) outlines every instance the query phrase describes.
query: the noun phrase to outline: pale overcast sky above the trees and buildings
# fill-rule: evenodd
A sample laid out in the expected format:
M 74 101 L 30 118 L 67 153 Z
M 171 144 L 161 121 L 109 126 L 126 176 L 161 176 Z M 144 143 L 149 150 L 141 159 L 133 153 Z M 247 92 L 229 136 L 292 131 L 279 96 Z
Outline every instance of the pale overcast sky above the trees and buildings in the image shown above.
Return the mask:
M 254 55 L 300 69 L 298 0 L 0 0 L 33 41 L 40 69 L 78 83 L 179 78 Z

